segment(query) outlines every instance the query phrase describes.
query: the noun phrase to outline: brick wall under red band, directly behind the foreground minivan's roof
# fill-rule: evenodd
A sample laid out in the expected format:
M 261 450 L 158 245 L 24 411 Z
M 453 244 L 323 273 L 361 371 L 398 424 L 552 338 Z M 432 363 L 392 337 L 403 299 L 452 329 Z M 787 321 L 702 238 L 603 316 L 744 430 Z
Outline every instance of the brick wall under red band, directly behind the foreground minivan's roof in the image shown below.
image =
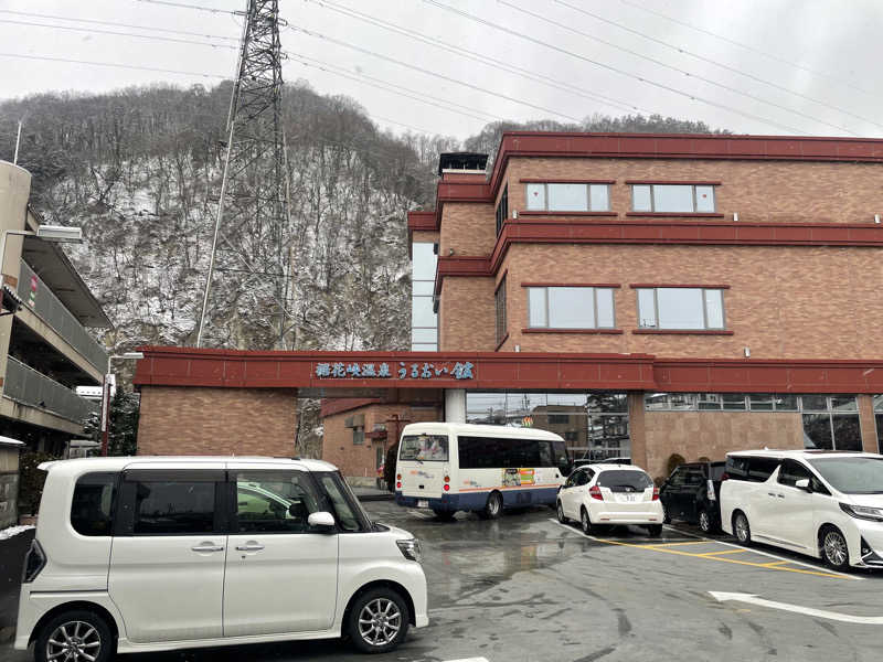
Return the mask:
M 295 456 L 296 389 L 142 386 L 138 455 Z

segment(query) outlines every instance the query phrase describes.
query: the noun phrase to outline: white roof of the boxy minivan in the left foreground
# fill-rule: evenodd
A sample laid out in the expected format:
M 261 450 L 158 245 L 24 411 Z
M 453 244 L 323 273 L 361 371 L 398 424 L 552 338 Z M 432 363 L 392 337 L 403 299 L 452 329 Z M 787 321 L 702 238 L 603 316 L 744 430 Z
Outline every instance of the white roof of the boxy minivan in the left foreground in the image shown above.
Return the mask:
M 52 473 L 62 472 L 79 474 L 86 471 L 123 471 L 126 468 L 150 469 L 199 469 L 203 466 L 226 469 L 255 465 L 267 465 L 268 468 L 300 469 L 301 471 L 337 471 L 330 462 L 310 459 L 272 458 L 266 456 L 128 456 L 110 458 L 77 458 L 73 460 L 54 460 L 43 462 L 40 469 Z

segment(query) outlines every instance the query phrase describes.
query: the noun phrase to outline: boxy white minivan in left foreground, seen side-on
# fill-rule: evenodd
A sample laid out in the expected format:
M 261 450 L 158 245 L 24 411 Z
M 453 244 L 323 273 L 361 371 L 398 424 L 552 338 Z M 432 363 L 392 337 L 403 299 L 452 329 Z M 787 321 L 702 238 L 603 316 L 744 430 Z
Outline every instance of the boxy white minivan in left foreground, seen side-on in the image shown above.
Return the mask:
M 365 652 L 427 624 L 421 546 L 372 522 L 319 460 L 46 462 L 15 648 L 38 662 L 347 636 Z

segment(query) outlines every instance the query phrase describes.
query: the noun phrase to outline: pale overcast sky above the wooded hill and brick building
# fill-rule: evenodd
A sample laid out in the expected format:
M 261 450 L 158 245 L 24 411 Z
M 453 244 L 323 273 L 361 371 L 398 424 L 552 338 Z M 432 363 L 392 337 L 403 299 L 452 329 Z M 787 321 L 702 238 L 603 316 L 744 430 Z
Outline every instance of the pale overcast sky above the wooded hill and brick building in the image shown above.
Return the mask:
M 227 11 L 247 4 L 246 0 L 180 3 Z M 280 0 L 279 4 L 292 28 L 281 32 L 283 49 L 289 53 L 285 79 L 302 78 L 322 94 L 351 96 L 379 125 L 396 132 L 407 125 L 465 138 L 499 118 L 573 121 L 594 113 L 624 115 L 637 108 L 643 114 L 701 119 L 736 132 L 883 137 L 883 0 Z M 343 15 L 332 7 L 474 52 L 479 61 Z M 230 13 L 143 0 L 0 0 L 0 98 L 157 82 L 214 84 L 232 77 L 241 32 L 241 19 Z M 203 45 L 209 42 L 215 45 Z M 301 64 L 301 56 L 312 58 L 313 66 Z M 509 63 L 525 75 L 503 71 L 487 58 Z M 339 73 L 318 68 L 316 61 Z M 476 117 L 379 89 L 377 81 L 406 88 L 411 92 L 403 92 L 411 96 L 446 100 Z

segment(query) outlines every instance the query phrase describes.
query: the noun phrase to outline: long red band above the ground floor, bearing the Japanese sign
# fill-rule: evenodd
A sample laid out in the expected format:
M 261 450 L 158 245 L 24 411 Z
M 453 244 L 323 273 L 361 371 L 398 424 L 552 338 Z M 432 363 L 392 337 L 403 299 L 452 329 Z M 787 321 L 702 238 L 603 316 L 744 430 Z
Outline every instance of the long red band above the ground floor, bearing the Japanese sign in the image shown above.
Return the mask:
M 683 393 L 883 393 L 883 360 L 659 359 L 651 354 L 528 352 L 247 352 L 140 348 L 134 383 L 219 388 L 417 391 L 621 389 Z M 474 378 L 317 378 L 316 364 L 472 363 Z

